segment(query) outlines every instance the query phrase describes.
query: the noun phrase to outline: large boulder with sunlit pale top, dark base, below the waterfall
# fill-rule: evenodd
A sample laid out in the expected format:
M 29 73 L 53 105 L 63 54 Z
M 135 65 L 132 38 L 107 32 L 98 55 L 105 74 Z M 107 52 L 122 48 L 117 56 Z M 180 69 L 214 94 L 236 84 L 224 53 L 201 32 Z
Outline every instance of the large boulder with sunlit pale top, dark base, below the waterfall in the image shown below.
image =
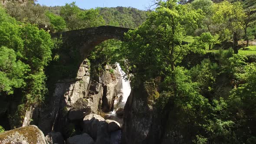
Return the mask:
M 109 144 L 108 123 L 100 115 L 86 115 L 83 130 L 95 140 L 95 144 Z

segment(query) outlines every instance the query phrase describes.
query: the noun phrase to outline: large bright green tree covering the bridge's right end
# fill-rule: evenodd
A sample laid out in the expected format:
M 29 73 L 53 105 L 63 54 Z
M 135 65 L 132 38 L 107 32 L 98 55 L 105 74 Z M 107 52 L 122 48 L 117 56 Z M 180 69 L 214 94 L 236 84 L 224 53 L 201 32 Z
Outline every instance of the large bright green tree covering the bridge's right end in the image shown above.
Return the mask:
M 125 48 L 121 49 L 125 62 L 145 79 L 173 72 L 189 52 L 202 52 L 201 47 L 182 45 L 186 7 L 176 0 L 160 1 L 158 5 L 146 22 L 125 34 Z

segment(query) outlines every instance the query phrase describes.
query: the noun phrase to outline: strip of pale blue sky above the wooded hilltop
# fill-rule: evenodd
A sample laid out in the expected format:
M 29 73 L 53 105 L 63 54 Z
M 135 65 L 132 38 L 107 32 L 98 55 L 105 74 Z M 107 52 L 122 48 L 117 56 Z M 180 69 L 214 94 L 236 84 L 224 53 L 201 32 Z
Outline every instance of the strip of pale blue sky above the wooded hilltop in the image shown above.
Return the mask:
M 75 1 L 82 9 L 95 7 L 135 7 L 140 10 L 147 10 L 153 0 L 38 0 L 37 3 L 46 6 L 63 6 L 65 3 Z

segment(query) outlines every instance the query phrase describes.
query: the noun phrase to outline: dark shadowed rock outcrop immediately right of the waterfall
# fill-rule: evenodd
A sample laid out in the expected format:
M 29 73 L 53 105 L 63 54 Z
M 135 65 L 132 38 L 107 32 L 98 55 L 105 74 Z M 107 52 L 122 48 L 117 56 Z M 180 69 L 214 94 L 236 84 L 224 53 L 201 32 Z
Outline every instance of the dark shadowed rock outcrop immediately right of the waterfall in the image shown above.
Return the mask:
M 153 86 L 132 89 L 125 105 L 122 144 L 158 144 L 161 134 L 158 113 L 154 110 Z

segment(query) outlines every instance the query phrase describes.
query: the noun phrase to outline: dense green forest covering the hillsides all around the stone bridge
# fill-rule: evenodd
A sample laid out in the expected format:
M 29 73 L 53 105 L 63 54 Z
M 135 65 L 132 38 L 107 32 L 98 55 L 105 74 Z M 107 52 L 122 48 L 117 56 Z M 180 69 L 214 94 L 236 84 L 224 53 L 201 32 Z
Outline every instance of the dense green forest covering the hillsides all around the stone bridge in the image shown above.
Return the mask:
M 92 75 L 120 63 L 133 91 L 148 92 L 141 98 L 159 114 L 161 143 L 256 143 L 255 0 L 156 0 L 148 11 L 0 4 L 0 117 L 10 123 L 0 133 L 44 105 L 54 82 L 75 76 L 76 59 L 61 69 L 62 41 L 51 35 L 105 25 L 131 30 L 93 49 Z

